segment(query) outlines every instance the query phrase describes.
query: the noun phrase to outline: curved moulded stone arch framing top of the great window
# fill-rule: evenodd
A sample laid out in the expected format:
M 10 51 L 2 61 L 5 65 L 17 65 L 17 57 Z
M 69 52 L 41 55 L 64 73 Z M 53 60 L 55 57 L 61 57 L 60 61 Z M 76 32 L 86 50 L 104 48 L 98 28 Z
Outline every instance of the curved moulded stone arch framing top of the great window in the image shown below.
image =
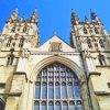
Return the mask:
M 78 77 L 78 79 L 85 78 L 82 69 L 75 62 L 73 62 L 66 57 L 63 57 L 63 56 L 50 56 L 50 57 L 42 59 L 38 64 L 36 64 L 34 66 L 34 69 L 30 76 L 30 79 L 35 80 L 37 74 L 40 73 L 40 70 L 42 68 L 44 68 L 45 66 L 53 64 L 55 62 L 64 64 L 65 66 L 69 67 L 72 70 L 74 70 L 76 73 L 76 76 Z

